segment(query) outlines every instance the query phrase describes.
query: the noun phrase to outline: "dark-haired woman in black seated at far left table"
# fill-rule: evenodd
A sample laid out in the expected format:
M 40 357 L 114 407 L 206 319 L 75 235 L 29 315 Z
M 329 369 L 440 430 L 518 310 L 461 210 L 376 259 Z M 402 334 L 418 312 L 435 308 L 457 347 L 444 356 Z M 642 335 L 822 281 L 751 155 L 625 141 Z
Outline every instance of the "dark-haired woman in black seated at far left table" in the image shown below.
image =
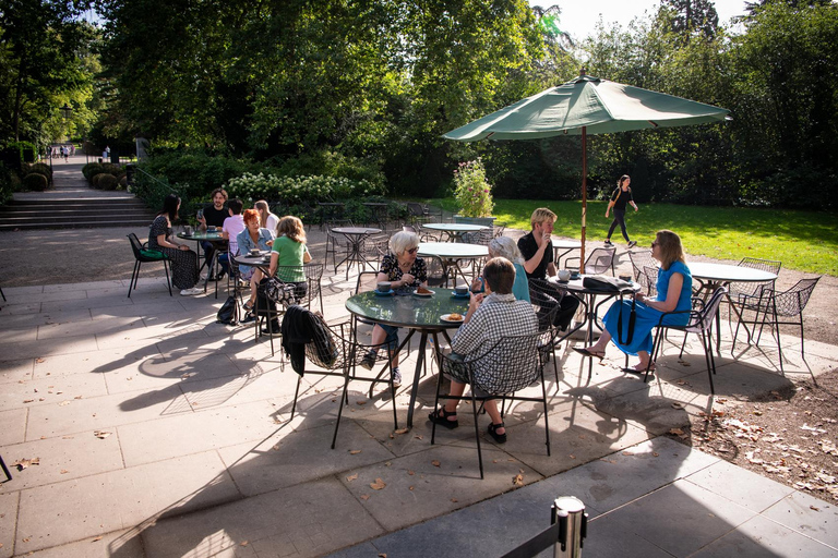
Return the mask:
M 180 198 L 169 194 L 163 201 L 163 209 L 157 214 L 148 231 L 148 247 L 166 254 L 171 260 L 171 283 L 181 289 L 182 296 L 192 296 L 204 292 L 197 282 L 197 254 L 185 244 L 175 242 L 171 223 L 178 218 Z

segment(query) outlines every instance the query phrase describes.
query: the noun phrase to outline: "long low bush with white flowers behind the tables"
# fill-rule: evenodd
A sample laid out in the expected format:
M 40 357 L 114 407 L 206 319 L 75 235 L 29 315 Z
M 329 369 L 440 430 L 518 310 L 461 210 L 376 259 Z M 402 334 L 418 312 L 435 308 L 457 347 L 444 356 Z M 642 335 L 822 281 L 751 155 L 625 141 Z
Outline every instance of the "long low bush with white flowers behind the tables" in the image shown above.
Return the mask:
M 325 199 L 349 199 L 383 194 L 380 187 L 368 180 L 351 180 L 338 177 L 277 177 L 274 174 L 251 174 L 232 178 L 225 186 L 230 197 L 255 201 L 283 199 L 288 203 L 315 202 Z

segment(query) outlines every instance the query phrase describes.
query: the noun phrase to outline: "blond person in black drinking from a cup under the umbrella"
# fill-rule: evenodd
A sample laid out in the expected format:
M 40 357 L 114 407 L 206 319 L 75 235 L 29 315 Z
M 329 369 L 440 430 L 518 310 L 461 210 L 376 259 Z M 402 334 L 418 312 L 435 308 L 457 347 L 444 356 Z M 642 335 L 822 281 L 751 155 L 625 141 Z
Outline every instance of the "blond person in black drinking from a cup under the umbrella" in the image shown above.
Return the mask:
M 532 230 L 518 239 L 518 250 L 524 256 L 524 269 L 527 279 L 546 279 L 547 275 L 555 277 L 555 264 L 553 264 L 553 223 L 555 214 L 547 207 L 539 207 L 532 211 L 529 219 Z M 558 291 L 558 290 L 556 290 Z M 566 330 L 573 322 L 579 300 L 576 296 L 564 296 L 556 292 L 559 300 L 559 313 L 555 315 L 555 324 L 562 331 Z

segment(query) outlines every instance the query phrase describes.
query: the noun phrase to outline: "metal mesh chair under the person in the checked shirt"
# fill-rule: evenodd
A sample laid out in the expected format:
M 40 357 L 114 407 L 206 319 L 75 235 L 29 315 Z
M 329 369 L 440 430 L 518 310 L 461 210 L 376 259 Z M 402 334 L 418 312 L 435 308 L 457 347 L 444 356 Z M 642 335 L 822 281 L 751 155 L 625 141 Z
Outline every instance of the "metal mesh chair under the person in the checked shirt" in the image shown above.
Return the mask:
M 471 386 L 470 395 L 464 397 L 440 395 L 443 375 L 439 375 L 436 383 L 436 400 L 434 409 L 439 409 L 440 399 L 471 401 L 471 413 L 475 421 L 475 437 L 477 438 L 477 457 L 480 463 L 480 478 L 483 478 L 483 456 L 480 450 L 480 430 L 477 421 L 479 407 L 477 402 L 501 399 L 504 401 L 540 401 L 543 404 L 544 417 L 544 444 L 547 454 L 550 456 L 550 425 L 548 423 L 547 389 L 544 388 L 544 360 L 539 350 L 541 333 L 504 337 L 499 341 L 487 343 L 484 350 L 481 347 L 477 354 L 442 355 L 443 371 L 456 381 Z M 541 380 L 541 397 L 516 396 L 515 392 L 525 389 L 530 384 Z M 476 391 L 480 391 L 477 395 Z M 503 405 L 501 416 L 503 416 Z M 436 423 L 431 429 L 431 444 L 436 435 Z

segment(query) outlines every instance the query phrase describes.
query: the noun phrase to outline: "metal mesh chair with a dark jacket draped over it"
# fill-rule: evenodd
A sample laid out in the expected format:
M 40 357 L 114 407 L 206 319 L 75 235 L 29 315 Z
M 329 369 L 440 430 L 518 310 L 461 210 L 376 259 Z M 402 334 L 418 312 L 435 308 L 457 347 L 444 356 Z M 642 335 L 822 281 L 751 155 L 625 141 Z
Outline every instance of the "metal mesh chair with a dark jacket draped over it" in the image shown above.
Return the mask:
M 311 341 L 306 343 L 306 357 L 311 364 L 321 369 L 311 371 L 307 367 L 304 374 L 340 376 L 344 378 L 344 388 L 340 393 L 340 407 L 337 411 L 337 421 L 335 421 L 335 432 L 332 435 L 332 449 L 335 449 L 335 442 L 337 441 L 337 430 L 340 427 L 340 416 L 343 415 L 344 404 L 349 401 L 347 390 L 350 381 L 360 380 L 372 384 L 384 383 L 390 385 L 390 395 L 393 402 L 393 425 L 394 429 L 398 429 L 398 416 L 396 415 L 396 388 L 393 386 L 393 375 L 391 374 L 387 378 L 358 375 L 358 364 L 360 364 L 369 350 L 375 349 L 376 347 L 358 343 L 355 339 L 350 322 L 330 326 L 323 322 L 323 318 L 311 312 L 304 314 L 300 312 L 290 313 L 289 311 L 286 319 L 289 319 L 290 316 L 295 316 L 295 319 L 318 320 L 326 332 L 325 338 L 314 336 Z M 291 405 L 291 418 L 294 418 L 294 414 L 297 410 L 297 399 L 299 398 L 302 377 L 303 374 L 300 374 L 297 379 L 297 389 L 294 392 L 294 404 Z

